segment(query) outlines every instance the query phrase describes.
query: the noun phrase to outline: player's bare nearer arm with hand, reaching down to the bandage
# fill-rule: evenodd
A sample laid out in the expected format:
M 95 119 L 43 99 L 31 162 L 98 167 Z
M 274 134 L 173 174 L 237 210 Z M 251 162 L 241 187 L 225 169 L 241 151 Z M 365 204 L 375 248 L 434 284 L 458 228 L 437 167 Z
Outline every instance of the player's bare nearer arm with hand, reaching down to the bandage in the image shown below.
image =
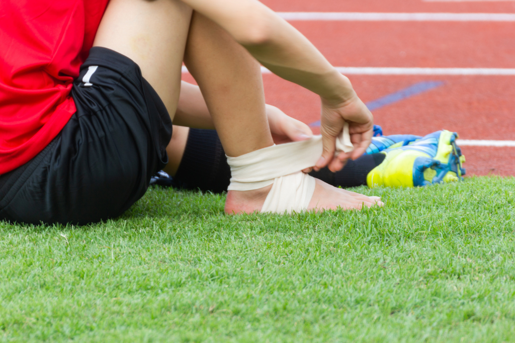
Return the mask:
M 359 100 L 349 79 L 341 75 L 299 31 L 256 0 L 182 0 L 226 29 L 236 41 L 278 76 L 295 82 L 321 97 L 324 152 L 317 167 L 334 154 L 335 137 L 344 121 L 350 124 L 360 156 L 372 136 L 372 114 Z M 339 156 L 332 169 L 343 166 L 350 155 Z

